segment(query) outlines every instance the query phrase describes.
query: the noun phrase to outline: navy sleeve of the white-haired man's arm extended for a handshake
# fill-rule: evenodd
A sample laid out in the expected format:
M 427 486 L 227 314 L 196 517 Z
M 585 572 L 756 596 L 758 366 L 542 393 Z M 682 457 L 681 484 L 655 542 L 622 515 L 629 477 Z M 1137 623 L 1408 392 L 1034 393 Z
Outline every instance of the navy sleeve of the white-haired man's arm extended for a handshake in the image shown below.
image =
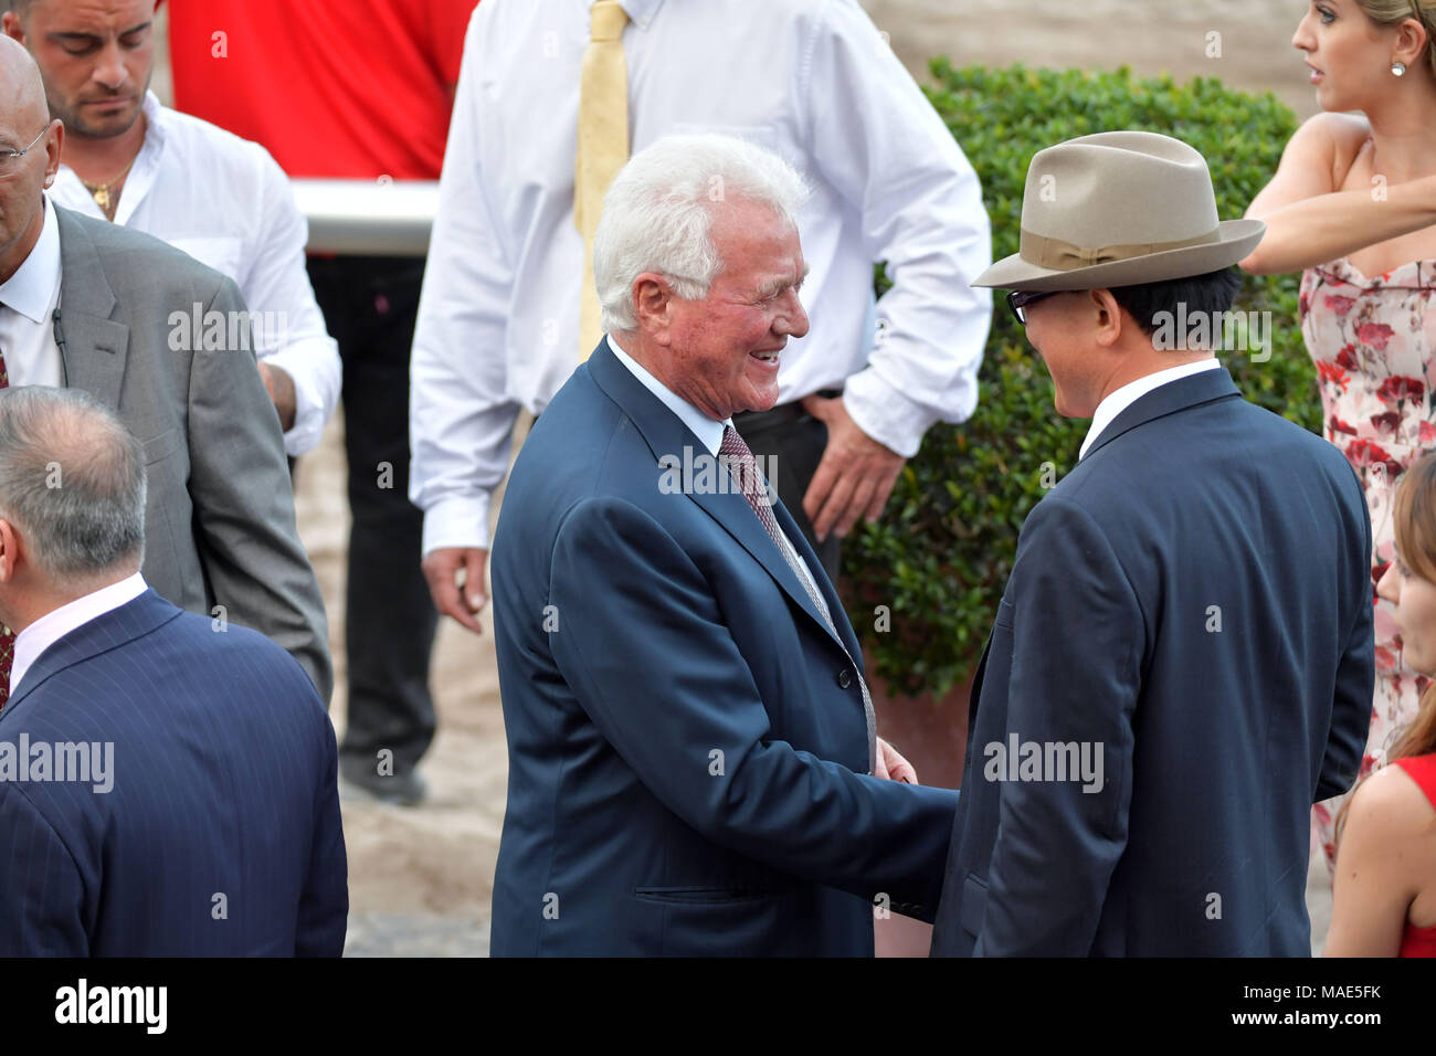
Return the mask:
M 556 540 L 550 602 L 564 680 L 669 810 L 775 869 L 931 917 L 956 793 L 773 740 L 712 589 L 652 517 L 615 499 L 576 506 Z

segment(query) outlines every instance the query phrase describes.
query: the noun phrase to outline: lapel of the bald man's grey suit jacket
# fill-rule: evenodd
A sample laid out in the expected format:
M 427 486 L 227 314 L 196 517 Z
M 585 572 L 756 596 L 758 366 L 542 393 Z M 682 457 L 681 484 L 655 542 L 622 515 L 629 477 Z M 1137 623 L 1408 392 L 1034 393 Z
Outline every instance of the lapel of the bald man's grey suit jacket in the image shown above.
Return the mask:
M 55 218 L 60 231 L 65 385 L 85 389 L 106 407 L 118 408 L 129 328 L 109 318 L 116 305 L 115 293 L 89 233 L 67 210 L 55 207 Z

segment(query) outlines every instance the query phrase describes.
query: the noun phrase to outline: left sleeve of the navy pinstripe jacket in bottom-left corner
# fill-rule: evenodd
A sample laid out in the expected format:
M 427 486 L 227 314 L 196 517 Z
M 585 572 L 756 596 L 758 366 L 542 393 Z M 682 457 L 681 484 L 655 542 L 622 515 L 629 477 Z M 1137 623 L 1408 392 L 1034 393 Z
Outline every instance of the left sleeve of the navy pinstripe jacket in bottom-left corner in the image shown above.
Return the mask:
M 0 955 L 88 957 L 80 869 L 45 816 L 10 784 L 0 784 Z

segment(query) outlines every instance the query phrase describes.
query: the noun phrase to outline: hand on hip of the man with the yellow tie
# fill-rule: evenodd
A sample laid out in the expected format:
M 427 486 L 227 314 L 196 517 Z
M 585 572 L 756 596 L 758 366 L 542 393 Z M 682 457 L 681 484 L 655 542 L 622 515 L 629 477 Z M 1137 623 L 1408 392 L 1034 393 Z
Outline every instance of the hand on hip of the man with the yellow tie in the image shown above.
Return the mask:
M 859 517 L 877 520 L 906 458 L 857 428 L 841 397 L 806 397 L 803 409 L 827 425 L 827 448 L 803 496 L 803 510 L 819 542 L 829 532 L 841 539 Z

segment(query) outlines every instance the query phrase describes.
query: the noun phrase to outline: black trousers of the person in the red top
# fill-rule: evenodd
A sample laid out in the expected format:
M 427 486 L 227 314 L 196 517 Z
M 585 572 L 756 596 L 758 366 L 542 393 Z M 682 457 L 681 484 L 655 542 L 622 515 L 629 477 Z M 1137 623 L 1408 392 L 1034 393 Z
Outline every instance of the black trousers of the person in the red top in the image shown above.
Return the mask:
M 409 346 L 424 280 L 414 257 L 310 257 L 309 277 L 343 361 L 349 461 L 342 756 L 406 773 L 434 740 L 429 654 L 438 613 L 419 570 L 424 514 L 409 501 Z

